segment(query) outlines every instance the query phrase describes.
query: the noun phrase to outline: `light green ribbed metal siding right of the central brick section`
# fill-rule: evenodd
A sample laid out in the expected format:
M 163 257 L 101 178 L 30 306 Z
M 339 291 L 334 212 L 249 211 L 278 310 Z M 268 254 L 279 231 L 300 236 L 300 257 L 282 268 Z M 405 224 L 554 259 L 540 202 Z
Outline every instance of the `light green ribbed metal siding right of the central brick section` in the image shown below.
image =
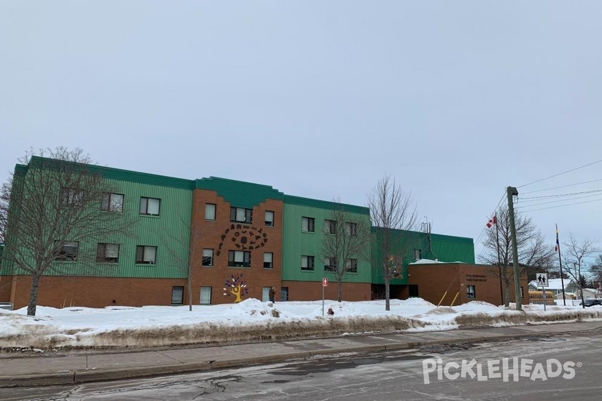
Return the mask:
M 285 196 L 286 200 L 290 198 Z M 320 204 L 320 201 L 317 201 Z M 362 210 L 365 208 L 361 208 Z M 367 210 L 367 209 L 365 209 Z M 284 281 L 321 281 L 323 277 L 335 280 L 335 275 L 324 272 L 324 255 L 321 244 L 324 239 L 324 219 L 329 218 L 330 209 L 284 204 L 284 227 L 282 232 L 282 280 Z M 353 213 L 358 219 L 370 224 L 367 213 Z M 301 231 L 301 218 L 315 219 L 315 232 Z M 314 271 L 301 271 L 301 256 L 315 257 Z M 370 283 L 370 261 L 358 258 L 358 272 L 344 275 L 345 283 Z

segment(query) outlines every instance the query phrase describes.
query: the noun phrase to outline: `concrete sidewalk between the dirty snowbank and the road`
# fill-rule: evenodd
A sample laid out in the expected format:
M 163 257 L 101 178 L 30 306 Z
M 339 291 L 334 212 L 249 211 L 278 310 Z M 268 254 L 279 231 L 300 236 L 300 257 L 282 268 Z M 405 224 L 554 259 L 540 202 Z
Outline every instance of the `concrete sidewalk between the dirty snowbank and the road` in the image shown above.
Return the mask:
M 320 355 L 412 349 L 427 344 L 476 343 L 569 332 L 586 335 L 588 331 L 598 328 L 602 328 L 602 322 L 358 335 L 139 352 L 101 353 L 97 350 L 14 357 L 5 354 L 0 357 L 0 387 L 76 384 L 192 373 Z

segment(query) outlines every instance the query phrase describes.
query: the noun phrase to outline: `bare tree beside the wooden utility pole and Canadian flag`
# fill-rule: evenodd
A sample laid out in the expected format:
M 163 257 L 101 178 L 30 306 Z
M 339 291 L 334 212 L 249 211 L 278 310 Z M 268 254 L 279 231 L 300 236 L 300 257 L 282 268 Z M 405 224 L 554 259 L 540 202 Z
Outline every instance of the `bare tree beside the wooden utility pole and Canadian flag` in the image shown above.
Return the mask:
M 518 264 L 520 275 L 534 273 L 542 269 L 548 271 L 553 265 L 554 250 L 546 242 L 545 237 L 537 229 L 531 218 L 515 212 L 515 225 L 517 230 Z M 498 266 L 498 248 L 501 269 L 491 269 L 492 275 L 501 278 L 504 286 L 504 305 L 510 304 L 510 284 L 514 282 L 514 271 L 508 269 L 512 266 L 512 237 L 510 235 L 510 219 L 507 207 L 501 207 L 497 212 L 497 230 L 490 228 L 483 239 L 485 254 L 480 258 L 482 263 Z

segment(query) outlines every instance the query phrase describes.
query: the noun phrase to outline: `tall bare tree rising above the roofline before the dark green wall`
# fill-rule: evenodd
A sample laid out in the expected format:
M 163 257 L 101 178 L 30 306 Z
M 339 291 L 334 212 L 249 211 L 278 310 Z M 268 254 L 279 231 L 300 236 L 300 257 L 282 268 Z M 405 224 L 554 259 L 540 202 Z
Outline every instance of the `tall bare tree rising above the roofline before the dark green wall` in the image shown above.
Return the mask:
M 367 206 L 370 207 L 372 224 L 382 230 L 377 246 L 380 248 L 380 269 L 385 282 L 385 310 L 390 310 L 389 284 L 401 269 L 392 262 L 400 257 L 403 260 L 403 255 L 393 253 L 393 230 L 415 230 L 418 212 L 411 194 L 406 194 L 390 175 L 380 179 L 368 194 Z

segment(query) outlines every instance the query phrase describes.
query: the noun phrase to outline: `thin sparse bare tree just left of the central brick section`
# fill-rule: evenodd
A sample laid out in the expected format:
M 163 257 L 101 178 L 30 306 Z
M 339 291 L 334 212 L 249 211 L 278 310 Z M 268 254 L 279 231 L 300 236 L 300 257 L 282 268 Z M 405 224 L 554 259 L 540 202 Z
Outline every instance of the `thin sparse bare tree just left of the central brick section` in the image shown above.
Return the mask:
M 161 237 L 161 241 L 167 249 L 167 253 L 172 257 L 172 263 L 186 275 L 186 286 L 188 292 L 188 310 L 192 311 L 192 275 L 195 268 L 203 265 L 203 260 L 209 256 L 195 257 L 195 249 L 197 243 L 202 240 L 200 227 L 191 227 L 184 216 L 179 216 L 182 227 L 187 228 L 185 231 L 179 231 L 178 234 L 170 233 L 169 231 L 161 230 L 157 235 Z M 182 257 L 179 249 L 187 249 L 187 257 Z M 213 255 L 211 262 L 213 262 Z

